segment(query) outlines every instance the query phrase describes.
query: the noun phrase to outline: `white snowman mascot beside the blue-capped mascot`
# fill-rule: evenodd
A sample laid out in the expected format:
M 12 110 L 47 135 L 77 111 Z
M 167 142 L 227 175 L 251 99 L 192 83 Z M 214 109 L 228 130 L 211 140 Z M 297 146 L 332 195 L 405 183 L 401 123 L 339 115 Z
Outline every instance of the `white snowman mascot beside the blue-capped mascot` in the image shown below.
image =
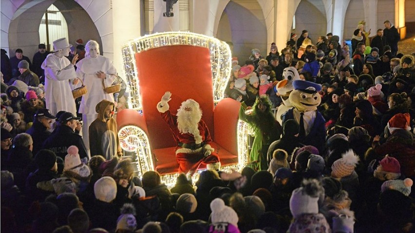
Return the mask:
M 275 114 L 275 118 L 280 125 L 283 125 L 283 114 L 293 107 L 288 97 L 291 91 L 294 90 L 294 80 L 300 80 L 300 74 L 295 67 L 287 67 L 283 71 L 283 80 L 277 84 L 277 91 L 283 100 L 283 103 L 278 107 L 277 113 Z

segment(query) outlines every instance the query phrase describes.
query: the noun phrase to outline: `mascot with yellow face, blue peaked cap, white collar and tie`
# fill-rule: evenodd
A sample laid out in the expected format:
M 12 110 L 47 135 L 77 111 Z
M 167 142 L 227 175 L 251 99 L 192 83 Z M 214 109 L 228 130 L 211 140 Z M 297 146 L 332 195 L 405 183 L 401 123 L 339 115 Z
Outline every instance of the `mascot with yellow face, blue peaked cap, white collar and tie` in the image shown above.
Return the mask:
M 321 103 L 321 86 L 313 82 L 295 80 L 293 87 L 289 100 L 294 108 L 283 115 L 283 124 L 289 119 L 297 121 L 300 125 L 300 143 L 313 145 L 322 152 L 326 129 L 324 118 L 317 110 Z

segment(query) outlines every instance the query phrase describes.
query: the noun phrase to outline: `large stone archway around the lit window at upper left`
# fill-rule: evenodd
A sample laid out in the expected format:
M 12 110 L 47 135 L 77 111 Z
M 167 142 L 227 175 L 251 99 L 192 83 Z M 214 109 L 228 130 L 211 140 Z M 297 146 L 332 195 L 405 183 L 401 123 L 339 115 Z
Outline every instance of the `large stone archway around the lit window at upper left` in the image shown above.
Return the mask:
M 33 57 L 38 49 L 41 18 L 51 4 L 62 11 L 68 24 L 71 44 L 75 44 L 78 38 L 82 38 L 84 43 L 94 39 L 101 45 L 101 54 L 109 53 L 112 57 L 113 21 L 110 0 L 1 1 L 1 13 L 6 17 L 1 25 L 1 47 L 10 50 L 9 56 L 13 56 L 13 51 L 19 47 L 29 58 Z

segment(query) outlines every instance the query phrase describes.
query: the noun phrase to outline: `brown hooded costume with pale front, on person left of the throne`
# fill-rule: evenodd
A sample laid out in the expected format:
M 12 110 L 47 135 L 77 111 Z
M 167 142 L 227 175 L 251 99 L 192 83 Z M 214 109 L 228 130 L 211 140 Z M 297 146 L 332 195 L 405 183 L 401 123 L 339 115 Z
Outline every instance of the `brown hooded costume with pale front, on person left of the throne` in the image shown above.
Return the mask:
M 113 105 L 113 102 L 103 100 L 96 105 L 95 111 L 98 113 L 98 117 L 89 126 L 91 156 L 102 155 L 107 160 L 115 155 L 122 156 L 117 123 L 113 118 L 106 120 L 104 117 L 105 108 L 109 105 Z M 113 105 L 113 110 L 114 108 Z

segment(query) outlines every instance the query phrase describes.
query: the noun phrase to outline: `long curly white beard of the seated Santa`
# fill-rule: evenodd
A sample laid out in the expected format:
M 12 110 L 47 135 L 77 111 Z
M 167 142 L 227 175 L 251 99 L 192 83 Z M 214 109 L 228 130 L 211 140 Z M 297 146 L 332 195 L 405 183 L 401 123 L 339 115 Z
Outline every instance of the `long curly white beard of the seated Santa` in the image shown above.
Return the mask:
M 189 133 L 194 136 L 196 144 L 202 143 L 202 136 L 198 124 L 202 119 L 202 113 L 197 109 L 186 111 L 184 108 L 177 112 L 177 128 L 181 133 Z

